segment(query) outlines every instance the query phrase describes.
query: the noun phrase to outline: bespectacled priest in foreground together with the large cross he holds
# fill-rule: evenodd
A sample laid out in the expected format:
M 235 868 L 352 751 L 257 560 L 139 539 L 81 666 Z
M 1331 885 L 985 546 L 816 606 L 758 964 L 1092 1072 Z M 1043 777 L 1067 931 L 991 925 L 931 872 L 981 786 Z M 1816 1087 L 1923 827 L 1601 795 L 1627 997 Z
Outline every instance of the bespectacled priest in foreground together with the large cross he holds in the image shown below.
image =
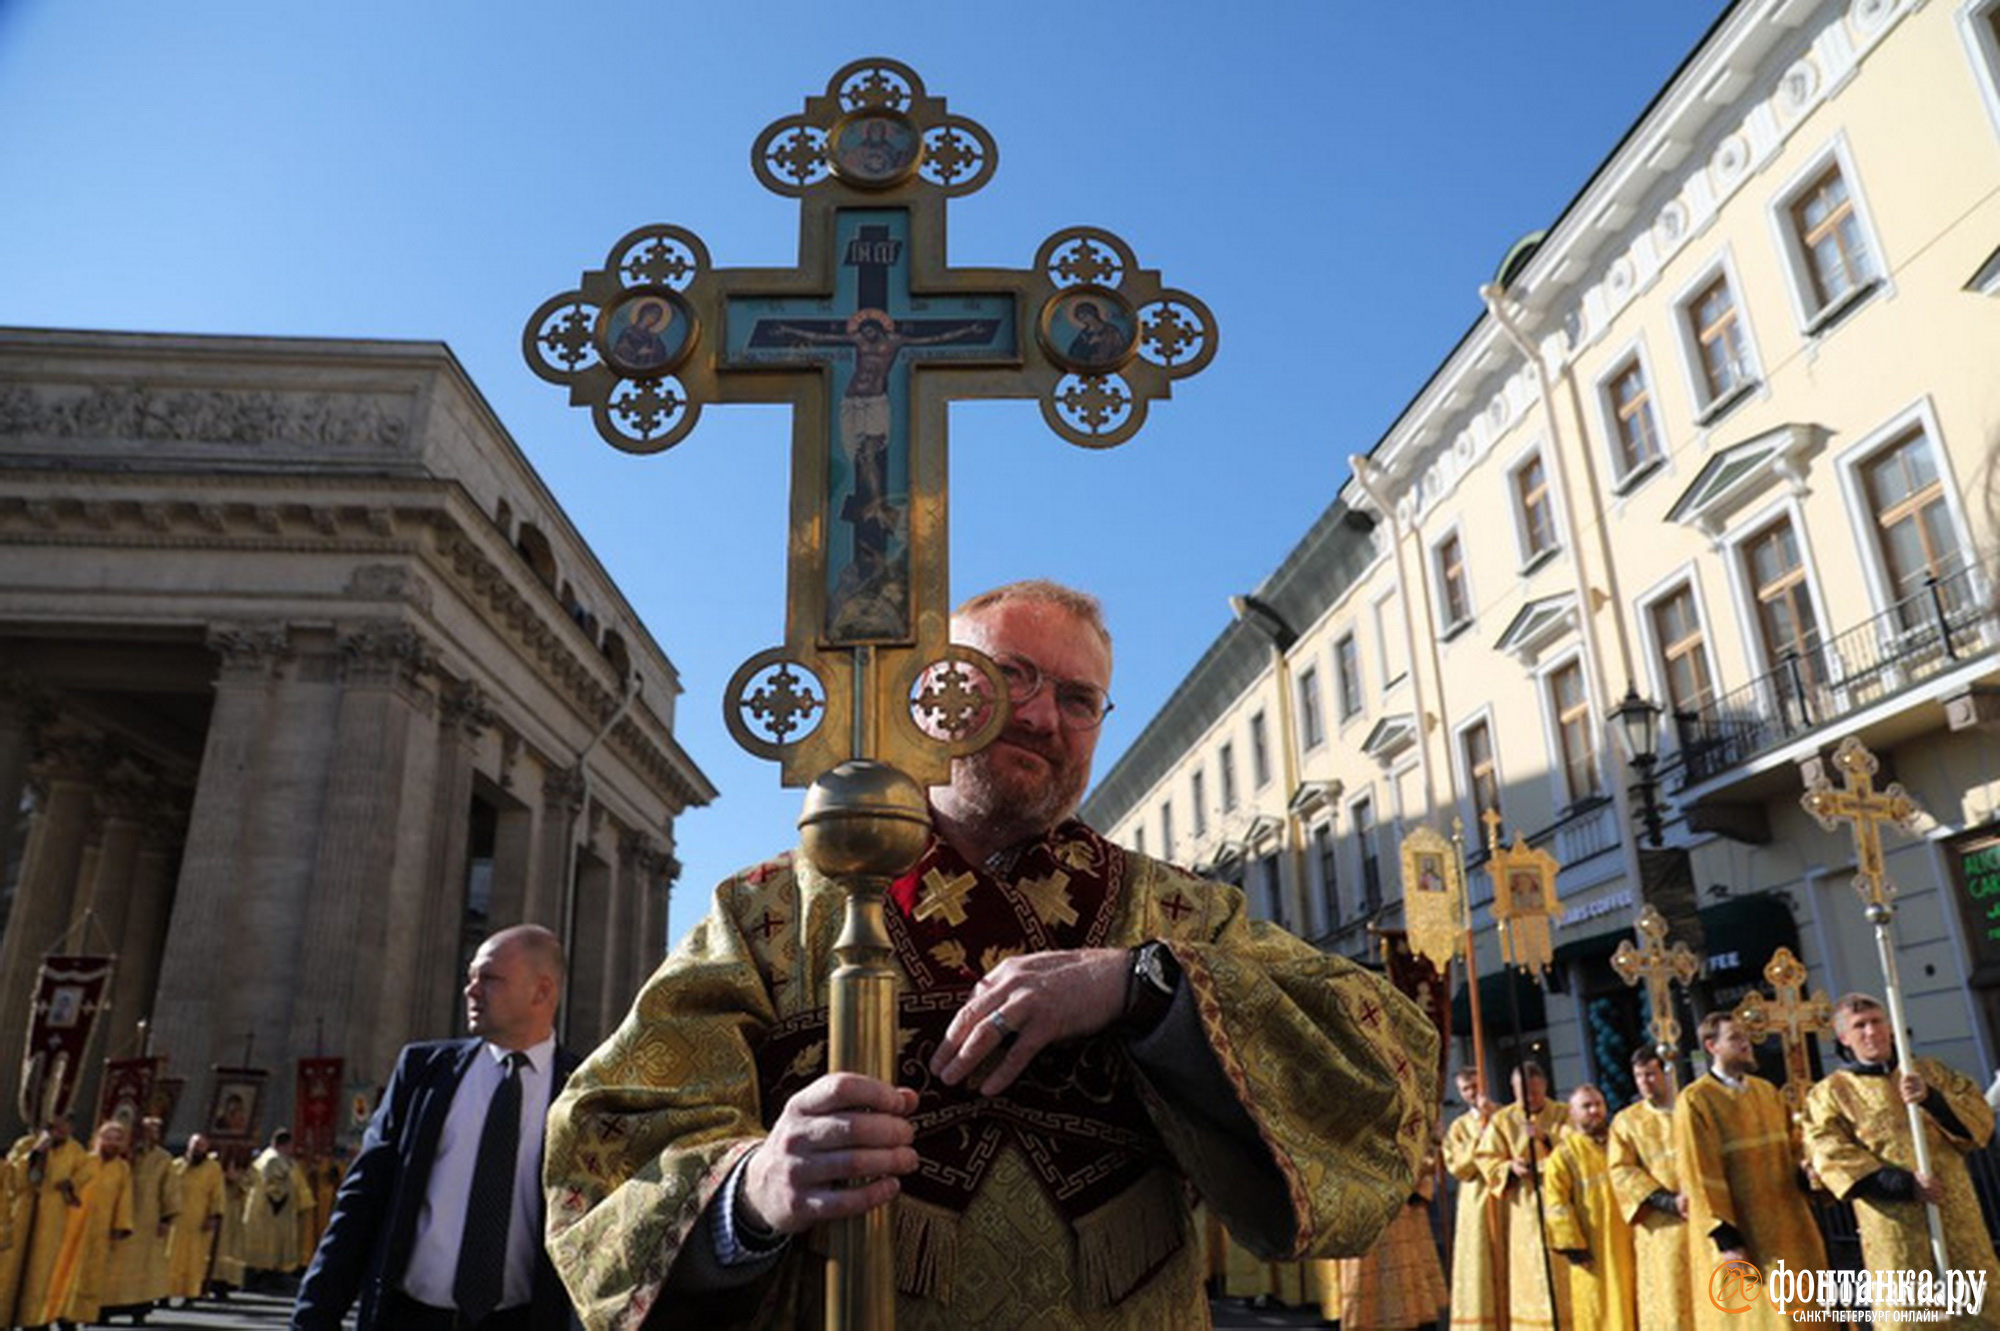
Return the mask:
M 944 204 L 996 150 L 896 62 L 834 74 L 752 162 L 802 200 L 798 270 L 642 228 L 524 334 L 634 452 L 708 402 L 794 406 L 786 642 L 726 709 L 812 785 L 802 853 L 722 883 L 550 1117 L 584 1323 L 1200 1325 L 1190 1193 L 1270 1259 L 1366 1251 L 1430 1143 L 1428 1019 L 1076 821 L 1094 598 L 948 612 L 946 402 L 1038 398 L 1118 444 L 1212 318 L 1094 230 L 948 268 Z

